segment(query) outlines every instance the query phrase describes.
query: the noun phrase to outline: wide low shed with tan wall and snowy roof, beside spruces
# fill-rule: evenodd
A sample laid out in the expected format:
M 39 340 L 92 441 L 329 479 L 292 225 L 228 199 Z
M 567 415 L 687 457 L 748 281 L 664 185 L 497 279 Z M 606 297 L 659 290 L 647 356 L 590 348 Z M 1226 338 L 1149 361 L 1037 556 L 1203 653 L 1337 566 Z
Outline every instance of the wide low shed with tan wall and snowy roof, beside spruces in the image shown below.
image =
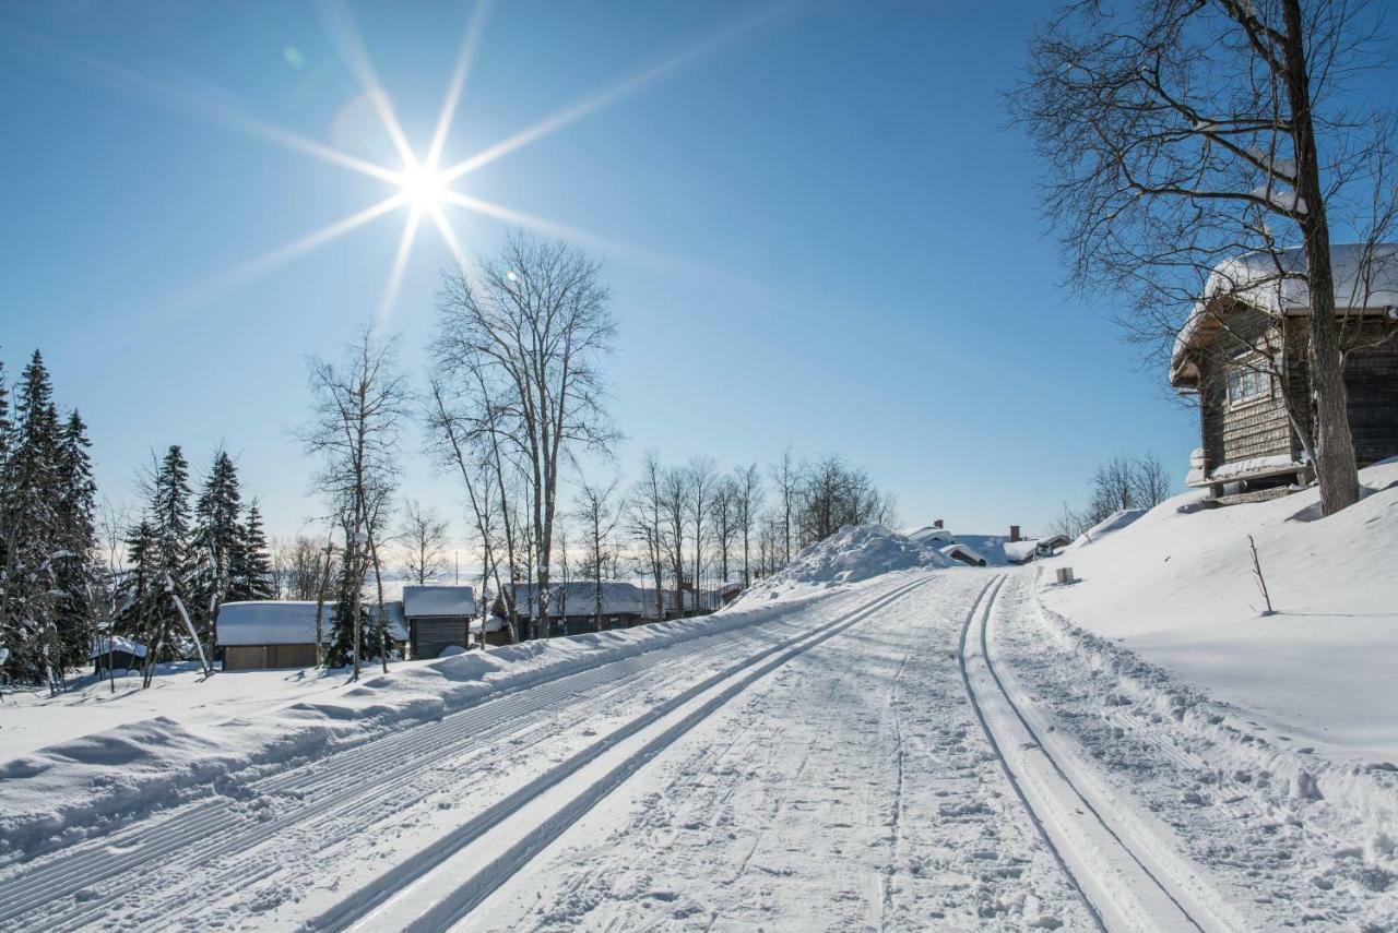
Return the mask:
M 225 602 L 214 626 L 224 670 L 315 666 L 316 605 L 299 599 Z M 327 603 L 320 619 L 323 642 L 330 640 L 334 617 L 334 606 Z

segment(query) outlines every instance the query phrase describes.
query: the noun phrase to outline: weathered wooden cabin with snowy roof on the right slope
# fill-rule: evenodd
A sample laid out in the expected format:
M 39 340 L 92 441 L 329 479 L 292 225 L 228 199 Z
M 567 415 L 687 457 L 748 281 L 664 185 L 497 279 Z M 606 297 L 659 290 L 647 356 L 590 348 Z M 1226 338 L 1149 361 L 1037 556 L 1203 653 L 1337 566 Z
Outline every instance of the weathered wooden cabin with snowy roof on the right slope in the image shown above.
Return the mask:
M 1346 348 L 1349 427 L 1360 466 L 1398 454 L 1398 246 L 1336 246 L 1335 316 Z M 1227 504 L 1313 479 L 1297 425 L 1313 434 L 1310 296 L 1302 250 L 1216 267 L 1181 328 L 1170 384 L 1199 404 L 1187 486 Z

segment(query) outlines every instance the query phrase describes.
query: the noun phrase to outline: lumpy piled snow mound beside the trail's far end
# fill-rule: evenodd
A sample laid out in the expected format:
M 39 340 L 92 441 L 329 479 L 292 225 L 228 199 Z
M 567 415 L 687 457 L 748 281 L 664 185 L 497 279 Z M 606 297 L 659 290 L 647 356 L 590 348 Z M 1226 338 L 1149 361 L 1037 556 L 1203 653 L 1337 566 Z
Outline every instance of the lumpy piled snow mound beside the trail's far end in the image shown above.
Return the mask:
M 879 525 L 846 525 L 798 553 L 790 564 L 766 577 L 755 592 L 779 594 L 800 585 L 851 584 L 896 570 L 951 567 L 952 561 Z M 770 598 L 770 596 L 768 596 Z

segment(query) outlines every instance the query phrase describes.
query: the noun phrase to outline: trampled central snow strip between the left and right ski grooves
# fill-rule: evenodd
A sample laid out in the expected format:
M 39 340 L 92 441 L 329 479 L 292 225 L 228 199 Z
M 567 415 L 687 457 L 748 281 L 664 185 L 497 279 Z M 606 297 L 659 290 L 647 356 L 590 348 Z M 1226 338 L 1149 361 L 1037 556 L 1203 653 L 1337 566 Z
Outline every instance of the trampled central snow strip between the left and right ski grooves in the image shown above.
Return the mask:
M 987 575 L 938 577 L 755 683 L 459 929 L 1089 927 L 960 686 Z

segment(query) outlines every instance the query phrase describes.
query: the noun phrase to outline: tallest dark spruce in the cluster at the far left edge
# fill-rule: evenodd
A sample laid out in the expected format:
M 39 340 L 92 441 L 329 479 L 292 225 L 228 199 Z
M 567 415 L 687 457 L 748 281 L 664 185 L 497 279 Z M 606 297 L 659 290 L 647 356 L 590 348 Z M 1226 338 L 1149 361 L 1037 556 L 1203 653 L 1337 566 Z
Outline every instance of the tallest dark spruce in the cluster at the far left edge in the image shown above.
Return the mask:
M 21 679 L 62 676 L 53 591 L 59 548 L 56 503 L 59 418 L 39 351 L 20 380 L 3 480 L 6 564 L 0 578 L 0 641 L 8 670 Z

